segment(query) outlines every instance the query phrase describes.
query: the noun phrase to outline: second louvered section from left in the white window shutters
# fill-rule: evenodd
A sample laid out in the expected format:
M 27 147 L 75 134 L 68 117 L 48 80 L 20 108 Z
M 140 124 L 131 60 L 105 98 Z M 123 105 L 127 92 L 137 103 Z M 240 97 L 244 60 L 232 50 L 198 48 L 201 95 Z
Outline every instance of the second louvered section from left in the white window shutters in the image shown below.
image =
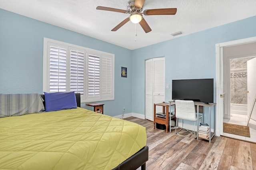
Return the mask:
M 84 60 L 85 51 L 70 50 L 70 91 L 84 96 Z

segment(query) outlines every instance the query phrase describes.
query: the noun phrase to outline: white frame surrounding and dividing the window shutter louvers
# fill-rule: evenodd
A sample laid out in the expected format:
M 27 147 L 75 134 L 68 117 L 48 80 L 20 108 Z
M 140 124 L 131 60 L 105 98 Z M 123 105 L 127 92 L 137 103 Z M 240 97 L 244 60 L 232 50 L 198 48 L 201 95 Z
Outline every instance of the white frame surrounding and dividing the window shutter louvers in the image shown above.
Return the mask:
M 106 52 L 103 52 L 103 51 L 98 51 L 98 50 L 94 50 L 94 49 L 89 49 L 89 48 L 86 48 L 86 47 L 82 47 L 82 46 L 78 46 L 78 45 L 73 45 L 73 44 L 70 44 L 70 43 L 65 43 L 65 42 L 62 42 L 62 41 L 57 41 L 57 40 L 54 40 L 54 39 L 49 39 L 49 38 L 46 38 L 44 37 L 44 49 L 43 49 L 43 92 L 49 92 L 49 88 L 50 86 L 48 85 L 48 75 L 49 75 L 49 69 L 50 69 L 50 66 L 48 64 L 48 44 L 49 43 L 55 43 L 55 44 L 59 44 L 60 46 L 68 46 L 68 47 L 71 47 L 71 48 L 77 48 L 77 49 L 82 49 L 85 51 L 85 67 L 87 65 L 87 56 L 88 56 L 88 53 L 90 53 L 90 55 L 98 55 L 100 57 L 100 59 L 102 59 L 104 56 L 108 56 L 108 57 L 111 57 L 111 64 L 112 64 L 112 73 L 111 73 L 111 94 L 110 96 L 108 96 L 108 98 L 103 98 L 102 97 L 102 92 L 100 90 L 100 98 L 88 98 L 88 96 L 86 95 L 87 92 L 88 92 L 88 86 L 87 86 L 87 83 L 84 83 L 84 97 L 81 97 L 81 102 L 97 102 L 97 101 L 106 101 L 106 100 L 114 100 L 114 54 L 111 54 L 111 53 L 106 53 Z M 67 49 L 68 50 L 68 49 Z M 68 53 L 68 55 L 70 55 Z M 68 59 L 70 59 L 68 57 Z M 67 65 L 68 69 L 70 69 L 70 64 Z M 68 80 L 70 81 L 70 78 L 69 78 L 69 75 L 70 73 L 67 72 L 68 74 Z M 87 69 L 85 68 L 85 71 L 84 71 L 84 82 L 88 82 L 88 78 L 87 78 L 87 75 L 88 75 L 88 71 Z M 102 86 L 101 84 L 102 82 L 102 77 L 100 77 L 100 86 Z M 68 86 L 67 88 L 69 89 L 70 88 L 70 83 L 68 82 L 67 83 Z

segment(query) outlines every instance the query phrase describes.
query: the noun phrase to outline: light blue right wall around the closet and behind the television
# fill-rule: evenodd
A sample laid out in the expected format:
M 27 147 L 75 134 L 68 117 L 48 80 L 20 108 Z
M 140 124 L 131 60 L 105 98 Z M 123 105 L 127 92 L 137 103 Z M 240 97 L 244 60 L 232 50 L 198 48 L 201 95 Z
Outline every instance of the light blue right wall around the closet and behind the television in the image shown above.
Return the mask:
M 133 113 L 145 113 L 145 59 L 165 57 L 165 82 L 170 84 L 166 102 L 172 99 L 174 79 L 214 78 L 215 94 L 215 45 L 254 36 L 256 16 L 132 51 L 132 75 L 136 75 L 132 76 Z

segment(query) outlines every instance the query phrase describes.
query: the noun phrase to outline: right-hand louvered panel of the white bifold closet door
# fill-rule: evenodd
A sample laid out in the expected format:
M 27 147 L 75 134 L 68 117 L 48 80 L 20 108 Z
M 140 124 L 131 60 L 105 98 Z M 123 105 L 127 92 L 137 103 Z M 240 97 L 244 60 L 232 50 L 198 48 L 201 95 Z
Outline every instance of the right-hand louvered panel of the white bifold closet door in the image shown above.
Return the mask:
M 153 101 L 162 103 L 165 100 L 165 59 L 164 57 L 153 60 Z M 162 106 L 156 106 L 156 113 L 162 113 Z

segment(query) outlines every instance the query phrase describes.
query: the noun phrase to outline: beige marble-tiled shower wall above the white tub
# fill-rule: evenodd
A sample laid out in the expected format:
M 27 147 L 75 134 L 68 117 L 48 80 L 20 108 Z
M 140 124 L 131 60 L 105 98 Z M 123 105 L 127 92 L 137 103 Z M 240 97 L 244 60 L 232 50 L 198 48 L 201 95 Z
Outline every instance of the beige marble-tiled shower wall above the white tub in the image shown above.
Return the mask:
M 247 104 L 247 61 L 250 58 L 230 59 L 230 103 Z

